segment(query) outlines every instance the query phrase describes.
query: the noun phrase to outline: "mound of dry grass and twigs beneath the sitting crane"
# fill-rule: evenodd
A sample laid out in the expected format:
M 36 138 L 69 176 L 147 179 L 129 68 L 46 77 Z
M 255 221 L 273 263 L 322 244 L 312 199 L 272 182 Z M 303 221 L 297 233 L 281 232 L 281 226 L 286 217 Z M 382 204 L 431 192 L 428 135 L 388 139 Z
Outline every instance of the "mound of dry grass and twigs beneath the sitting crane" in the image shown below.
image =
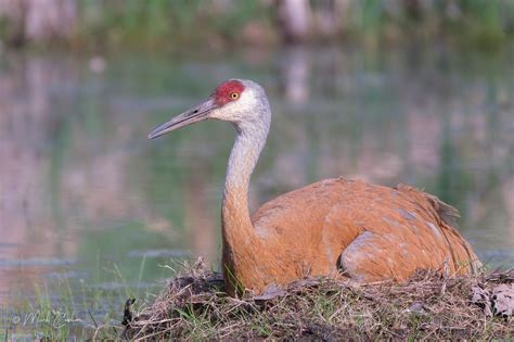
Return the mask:
M 500 290 L 499 290 L 500 289 Z M 234 299 L 202 262 L 127 322 L 127 339 L 476 340 L 514 338 L 514 269 L 357 284 L 311 278 Z

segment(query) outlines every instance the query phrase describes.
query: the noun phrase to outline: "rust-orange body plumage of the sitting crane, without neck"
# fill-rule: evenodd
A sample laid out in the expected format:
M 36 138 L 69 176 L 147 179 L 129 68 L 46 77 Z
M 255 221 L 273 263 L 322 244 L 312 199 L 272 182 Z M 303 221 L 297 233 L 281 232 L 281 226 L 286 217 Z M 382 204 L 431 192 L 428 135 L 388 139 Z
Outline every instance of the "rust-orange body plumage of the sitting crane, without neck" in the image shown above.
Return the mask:
M 370 282 L 401 281 L 419 268 L 475 273 L 480 264 L 451 226 L 455 215 L 437 198 L 408 186 L 318 181 L 273 199 L 253 215 L 257 239 L 245 243 L 247 237 L 241 236 L 236 243 L 246 246 L 245 253 L 223 253 L 227 281 L 232 291 L 237 279 L 261 292 L 306 276 Z

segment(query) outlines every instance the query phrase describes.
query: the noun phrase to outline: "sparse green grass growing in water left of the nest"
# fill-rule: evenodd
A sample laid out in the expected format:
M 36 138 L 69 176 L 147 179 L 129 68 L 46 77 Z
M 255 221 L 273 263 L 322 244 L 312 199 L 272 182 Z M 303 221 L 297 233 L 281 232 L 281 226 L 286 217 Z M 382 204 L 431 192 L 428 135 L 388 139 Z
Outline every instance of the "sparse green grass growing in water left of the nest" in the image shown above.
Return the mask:
M 115 340 L 123 331 L 123 303 L 137 297 L 137 305 L 149 305 L 157 292 L 156 283 L 144 283 L 145 258 L 136 266 L 139 266 L 136 281 L 128 280 L 117 264 L 106 266 L 99 261 L 97 275 L 89 281 L 76 281 L 69 277 L 73 271 L 62 271 L 48 284 L 35 283 L 34 296 L 21 294 L 9 307 L 0 307 L 3 315 L 0 338 L 5 341 Z M 103 282 L 101 273 L 110 273 L 111 281 Z

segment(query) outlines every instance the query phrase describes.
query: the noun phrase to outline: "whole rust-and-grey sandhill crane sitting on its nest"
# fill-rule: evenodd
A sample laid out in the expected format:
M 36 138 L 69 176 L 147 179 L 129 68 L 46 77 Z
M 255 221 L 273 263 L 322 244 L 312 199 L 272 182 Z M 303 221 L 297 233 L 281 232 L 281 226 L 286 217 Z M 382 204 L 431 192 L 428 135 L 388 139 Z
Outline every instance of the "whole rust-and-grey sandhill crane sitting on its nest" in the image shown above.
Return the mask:
M 250 217 L 249 179 L 271 122 L 262 87 L 229 79 L 149 138 L 209 118 L 229 122 L 236 131 L 221 211 L 230 294 L 242 288 L 261 293 L 306 276 L 401 281 L 419 268 L 470 274 L 480 266 L 451 225 L 457 210 L 409 186 L 325 179 L 269 201 Z

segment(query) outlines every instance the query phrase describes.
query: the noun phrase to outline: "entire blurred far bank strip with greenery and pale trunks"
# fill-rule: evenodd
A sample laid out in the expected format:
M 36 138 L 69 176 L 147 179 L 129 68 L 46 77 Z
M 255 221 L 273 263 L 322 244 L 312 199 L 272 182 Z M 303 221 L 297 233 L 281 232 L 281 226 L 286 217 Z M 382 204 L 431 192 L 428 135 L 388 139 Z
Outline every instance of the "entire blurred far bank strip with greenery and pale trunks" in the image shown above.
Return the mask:
M 510 0 L 1 0 L 7 47 L 174 49 L 284 41 L 449 40 L 494 48 L 514 31 Z

